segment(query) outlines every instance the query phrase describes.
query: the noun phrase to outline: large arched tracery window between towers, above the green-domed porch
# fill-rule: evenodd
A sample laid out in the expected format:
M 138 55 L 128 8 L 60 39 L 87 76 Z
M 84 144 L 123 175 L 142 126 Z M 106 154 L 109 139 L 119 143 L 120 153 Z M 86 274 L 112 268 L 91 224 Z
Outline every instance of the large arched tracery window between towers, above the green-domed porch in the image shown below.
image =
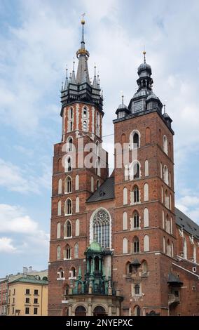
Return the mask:
M 99 209 L 92 221 L 93 237 L 102 246 L 110 247 L 110 217 L 104 209 Z

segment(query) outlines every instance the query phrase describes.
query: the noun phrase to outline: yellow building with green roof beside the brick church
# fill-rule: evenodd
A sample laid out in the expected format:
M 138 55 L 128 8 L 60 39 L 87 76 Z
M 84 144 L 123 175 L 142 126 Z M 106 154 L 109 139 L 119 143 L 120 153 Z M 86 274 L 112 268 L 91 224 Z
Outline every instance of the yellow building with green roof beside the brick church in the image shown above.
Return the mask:
M 8 284 L 8 316 L 48 315 L 48 281 L 24 275 Z

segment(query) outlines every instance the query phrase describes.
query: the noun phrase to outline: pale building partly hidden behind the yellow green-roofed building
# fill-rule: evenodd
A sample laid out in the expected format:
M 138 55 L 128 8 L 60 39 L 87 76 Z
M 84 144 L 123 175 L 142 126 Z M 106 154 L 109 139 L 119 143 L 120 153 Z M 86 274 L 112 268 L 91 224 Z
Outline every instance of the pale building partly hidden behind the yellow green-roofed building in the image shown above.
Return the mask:
M 35 276 L 36 279 L 43 279 L 44 281 L 48 281 L 48 270 L 32 270 L 31 266 L 29 268 L 23 267 L 23 271 L 18 272 L 18 274 L 10 274 L 7 275 L 4 279 L 0 279 L 0 315 L 7 315 L 8 284 L 13 282 L 15 279 L 19 279 L 27 275 L 32 275 Z

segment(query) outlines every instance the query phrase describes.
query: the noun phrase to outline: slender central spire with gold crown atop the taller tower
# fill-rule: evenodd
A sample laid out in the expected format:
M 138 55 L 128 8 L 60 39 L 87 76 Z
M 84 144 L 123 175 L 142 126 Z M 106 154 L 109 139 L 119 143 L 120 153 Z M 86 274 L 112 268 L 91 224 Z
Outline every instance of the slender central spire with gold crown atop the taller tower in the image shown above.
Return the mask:
M 76 74 L 76 83 L 77 84 L 83 84 L 84 79 L 86 77 L 86 82 L 90 85 L 90 78 L 89 78 L 89 72 L 88 72 L 88 58 L 89 53 L 85 49 L 85 41 L 84 41 L 84 25 L 85 20 L 81 20 L 82 25 L 82 37 L 81 37 L 81 48 L 78 49 L 76 52 L 76 57 L 78 58 L 78 69 Z M 86 72 L 86 74 L 85 74 Z

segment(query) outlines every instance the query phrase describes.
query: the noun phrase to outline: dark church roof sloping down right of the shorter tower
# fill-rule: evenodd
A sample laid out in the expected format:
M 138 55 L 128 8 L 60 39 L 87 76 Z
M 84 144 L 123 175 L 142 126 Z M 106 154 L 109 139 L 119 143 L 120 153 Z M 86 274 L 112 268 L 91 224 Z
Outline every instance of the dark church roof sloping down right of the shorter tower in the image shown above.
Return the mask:
M 188 234 L 193 235 L 196 239 L 199 239 L 199 225 L 194 223 L 193 220 L 188 218 L 183 212 L 175 208 L 176 214 L 176 223 L 179 227 L 182 227 L 183 230 L 188 232 Z

